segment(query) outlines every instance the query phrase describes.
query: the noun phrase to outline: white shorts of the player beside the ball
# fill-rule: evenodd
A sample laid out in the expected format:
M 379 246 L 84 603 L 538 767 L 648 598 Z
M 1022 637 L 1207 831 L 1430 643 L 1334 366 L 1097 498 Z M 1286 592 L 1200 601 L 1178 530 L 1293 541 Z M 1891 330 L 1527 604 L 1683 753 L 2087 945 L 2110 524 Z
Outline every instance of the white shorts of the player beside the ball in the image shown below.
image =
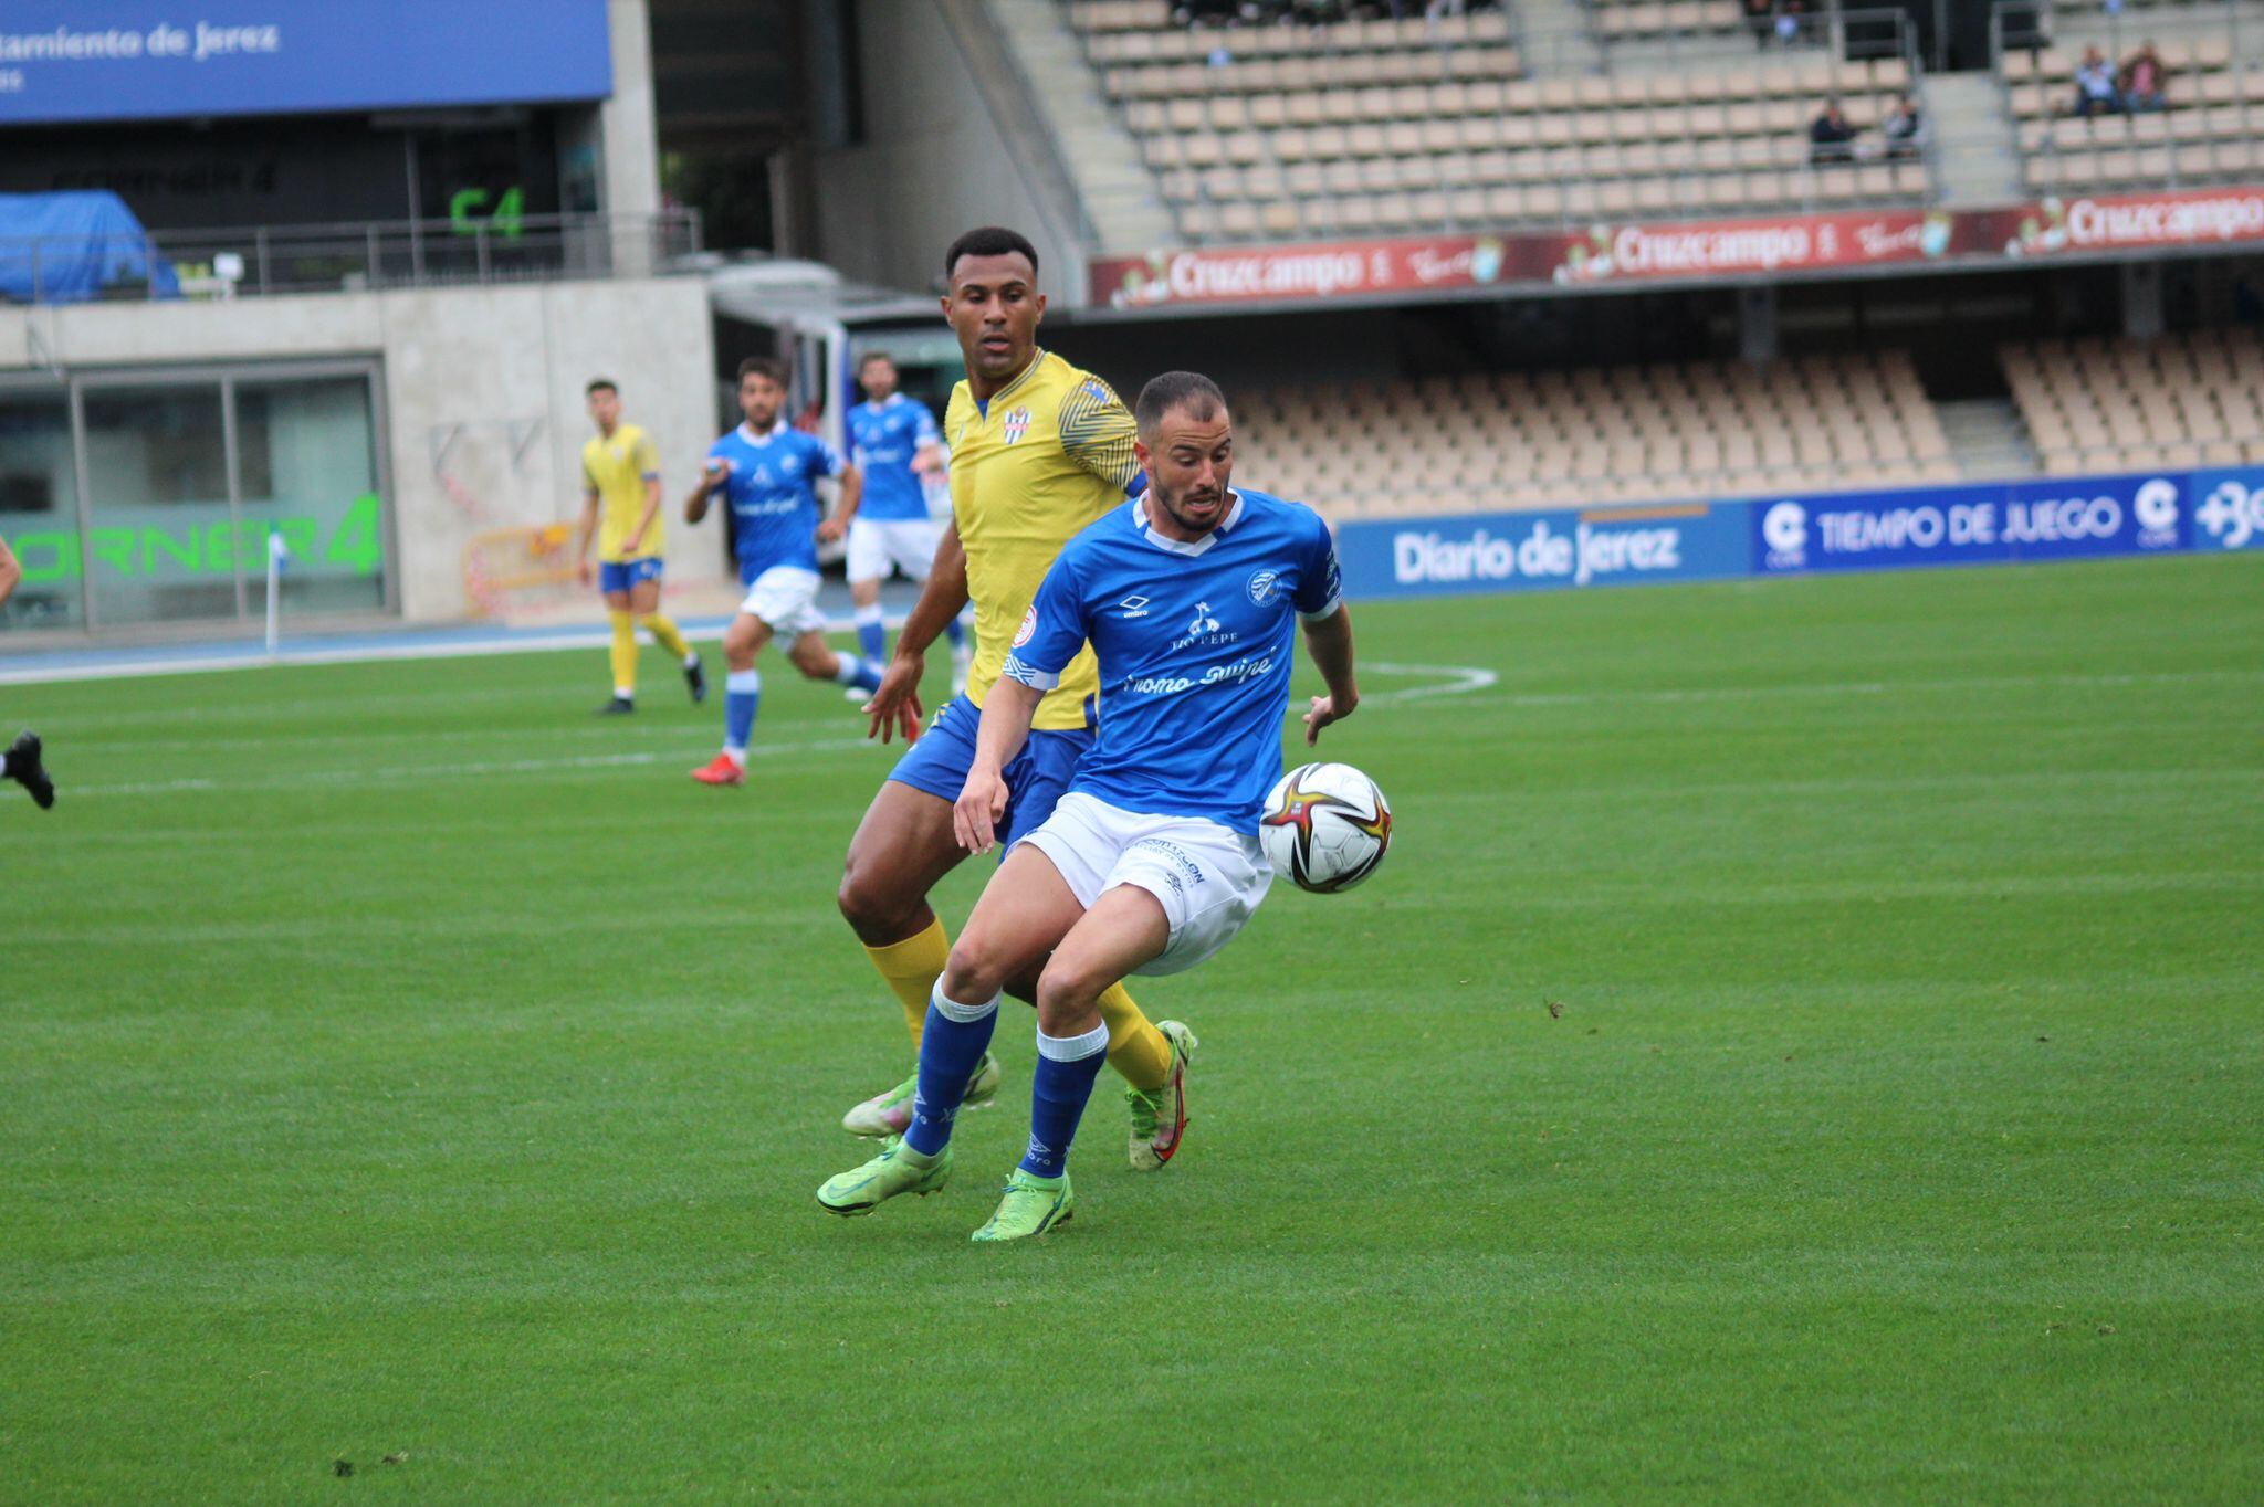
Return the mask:
M 1064 794 L 1021 842 L 1053 860 L 1084 910 L 1118 885 L 1164 903 L 1170 941 L 1134 973 L 1193 968 L 1234 941 L 1272 885 L 1257 837 L 1200 817 L 1141 817 L 1082 790 Z

